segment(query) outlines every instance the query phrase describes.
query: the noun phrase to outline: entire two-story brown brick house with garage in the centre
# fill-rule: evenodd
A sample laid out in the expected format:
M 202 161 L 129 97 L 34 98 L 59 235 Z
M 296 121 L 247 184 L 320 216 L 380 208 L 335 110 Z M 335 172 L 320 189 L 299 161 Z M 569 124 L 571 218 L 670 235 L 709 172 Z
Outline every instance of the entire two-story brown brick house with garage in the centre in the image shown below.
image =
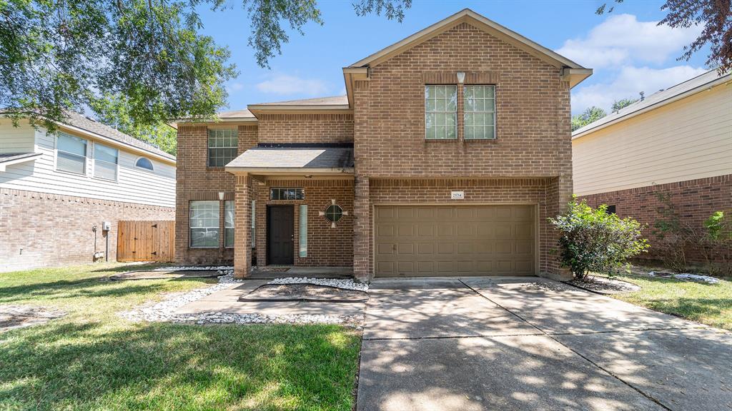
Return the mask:
M 556 276 L 590 74 L 463 10 L 344 68 L 346 96 L 178 124 L 176 260 Z

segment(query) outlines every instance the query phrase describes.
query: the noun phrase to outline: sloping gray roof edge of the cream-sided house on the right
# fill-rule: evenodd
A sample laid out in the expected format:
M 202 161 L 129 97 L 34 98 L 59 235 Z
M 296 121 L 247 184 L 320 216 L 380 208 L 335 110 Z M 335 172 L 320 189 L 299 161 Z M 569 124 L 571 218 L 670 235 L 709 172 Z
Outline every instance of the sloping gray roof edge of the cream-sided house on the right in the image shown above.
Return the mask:
M 717 73 L 717 69 L 709 70 L 703 75 L 698 75 L 695 78 L 690 78 L 689 80 L 684 81 L 683 83 L 676 84 L 676 86 L 666 88 L 663 91 L 658 91 L 657 93 L 651 94 L 649 97 L 646 97 L 645 99 L 643 99 L 643 101 L 635 102 L 632 105 L 628 105 L 627 107 L 622 108 L 616 113 L 610 113 L 608 114 L 608 116 L 600 118 L 600 120 L 587 124 L 585 127 L 582 127 L 580 129 L 576 129 L 574 132 L 572 132 L 572 136 L 583 134 L 584 132 L 588 132 L 591 129 L 601 128 L 605 126 L 605 124 L 617 121 L 624 117 L 630 118 L 634 113 L 637 113 L 638 111 L 646 108 L 650 108 L 654 105 L 661 107 L 665 104 L 665 102 L 668 102 L 668 100 L 684 94 L 687 91 L 692 91 L 696 88 L 698 88 L 698 91 L 702 91 L 704 89 L 704 86 L 724 78 L 732 80 L 732 73 L 719 75 Z

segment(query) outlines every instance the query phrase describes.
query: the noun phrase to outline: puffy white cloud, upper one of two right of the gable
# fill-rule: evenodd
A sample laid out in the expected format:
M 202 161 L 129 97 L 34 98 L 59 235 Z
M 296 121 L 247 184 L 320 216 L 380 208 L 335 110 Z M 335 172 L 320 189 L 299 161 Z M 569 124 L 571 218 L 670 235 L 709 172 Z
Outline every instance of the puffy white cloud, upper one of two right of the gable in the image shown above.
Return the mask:
M 638 21 L 635 15 L 612 15 L 583 39 L 569 39 L 557 53 L 584 67 L 598 69 L 639 62 L 662 64 L 677 57 L 684 45 L 701 33 L 701 27 L 672 29 L 657 21 Z

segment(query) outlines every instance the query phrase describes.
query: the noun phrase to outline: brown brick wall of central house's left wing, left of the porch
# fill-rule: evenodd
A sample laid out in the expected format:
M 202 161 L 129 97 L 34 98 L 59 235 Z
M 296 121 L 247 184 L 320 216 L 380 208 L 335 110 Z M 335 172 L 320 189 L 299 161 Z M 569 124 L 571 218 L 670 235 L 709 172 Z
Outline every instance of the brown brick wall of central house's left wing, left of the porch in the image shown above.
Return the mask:
M 227 128 L 216 124 L 216 128 Z M 239 148 L 242 154 L 257 145 L 257 126 L 231 126 L 238 129 Z M 208 167 L 208 128 L 206 125 L 181 124 L 178 128 L 179 168 L 176 175 L 176 262 L 184 264 L 231 263 L 234 249 L 223 248 L 223 235 L 220 247 L 216 249 L 191 249 L 189 244 L 188 219 L 191 200 L 219 200 L 219 192 L 224 192 L 224 200 L 234 200 L 236 178 L 222 167 Z M 220 227 L 223 227 L 223 202 L 220 208 Z M 223 233 L 223 231 L 222 231 Z

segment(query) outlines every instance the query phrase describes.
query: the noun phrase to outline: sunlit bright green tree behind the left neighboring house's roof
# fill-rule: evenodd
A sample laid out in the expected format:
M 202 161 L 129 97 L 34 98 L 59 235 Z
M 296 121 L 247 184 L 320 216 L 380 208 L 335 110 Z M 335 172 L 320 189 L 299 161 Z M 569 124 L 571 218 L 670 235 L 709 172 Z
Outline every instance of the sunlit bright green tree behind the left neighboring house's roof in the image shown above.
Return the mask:
M 154 124 L 135 122 L 130 116 L 130 104 L 122 96 L 105 95 L 91 102 L 91 109 L 97 113 L 97 121 L 114 127 L 124 134 L 131 135 L 157 146 L 168 154 L 176 155 L 176 129 L 163 121 Z

